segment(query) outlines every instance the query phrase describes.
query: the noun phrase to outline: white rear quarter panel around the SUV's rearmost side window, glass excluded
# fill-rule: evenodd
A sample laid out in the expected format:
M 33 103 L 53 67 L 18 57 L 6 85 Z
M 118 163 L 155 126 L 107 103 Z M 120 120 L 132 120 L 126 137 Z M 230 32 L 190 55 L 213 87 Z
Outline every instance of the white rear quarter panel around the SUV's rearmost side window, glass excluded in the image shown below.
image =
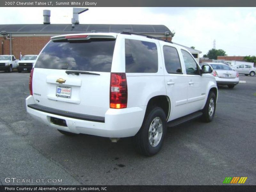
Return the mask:
M 126 73 L 128 86 L 127 108 L 146 106 L 148 101 L 157 95 L 166 95 L 162 53 L 157 40 L 135 35 L 118 35 L 111 72 L 125 72 L 125 39 L 153 42 L 157 46 L 157 73 Z

